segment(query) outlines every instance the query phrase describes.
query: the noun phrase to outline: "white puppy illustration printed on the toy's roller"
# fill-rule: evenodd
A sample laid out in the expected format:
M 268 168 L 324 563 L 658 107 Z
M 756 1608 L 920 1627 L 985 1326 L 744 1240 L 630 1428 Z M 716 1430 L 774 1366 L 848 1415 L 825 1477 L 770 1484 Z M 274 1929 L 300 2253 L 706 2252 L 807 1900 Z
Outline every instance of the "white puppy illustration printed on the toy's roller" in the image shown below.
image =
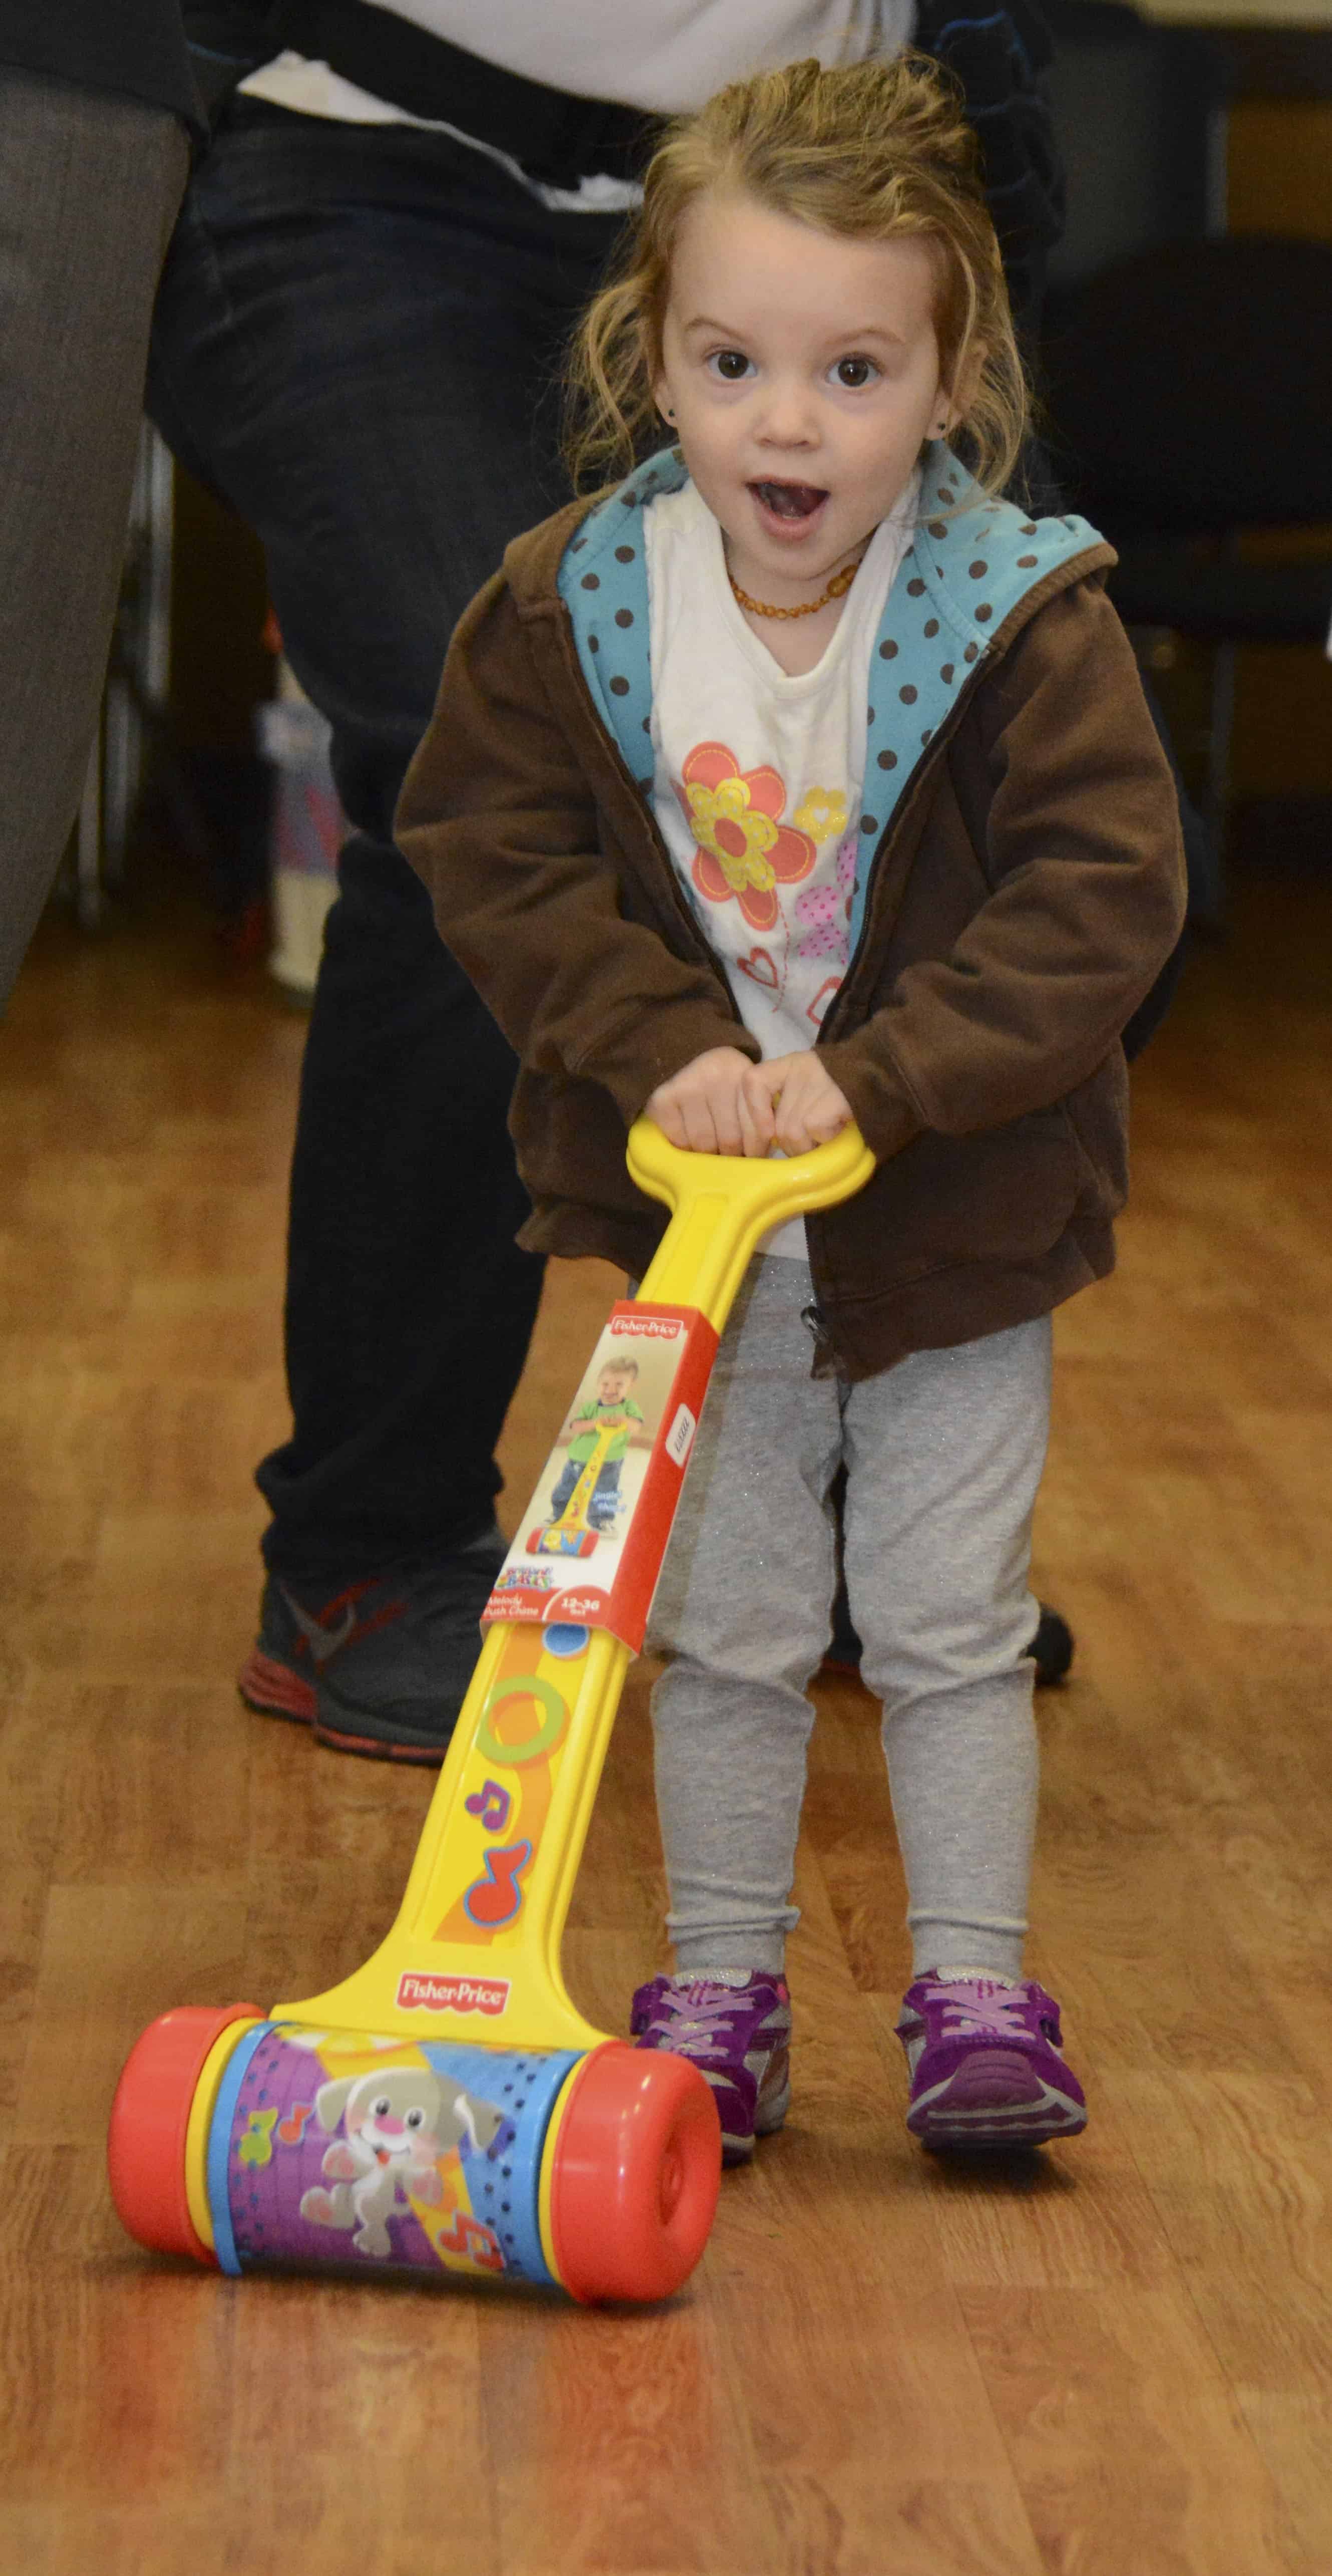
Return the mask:
M 438 2159 L 451 2148 L 484 2154 L 505 2130 L 495 2102 L 451 2089 L 428 2066 L 389 2066 L 368 2076 L 319 2084 L 314 2117 L 330 2136 L 319 2184 L 301 2195 L 301 2218 L 319 2228 L 353 2228 L 358 2254 L 392 2257 L 389 2218 L 412 2200 L 438 2208 Z

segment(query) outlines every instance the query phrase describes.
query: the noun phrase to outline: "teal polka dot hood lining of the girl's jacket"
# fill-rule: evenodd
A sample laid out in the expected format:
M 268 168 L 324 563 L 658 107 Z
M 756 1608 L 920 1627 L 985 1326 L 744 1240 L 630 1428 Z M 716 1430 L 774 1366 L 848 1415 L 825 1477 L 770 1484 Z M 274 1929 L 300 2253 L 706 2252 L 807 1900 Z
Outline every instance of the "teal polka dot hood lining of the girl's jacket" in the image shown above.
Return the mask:
M 652 796 L 652 662 L 642 523 L 657 492 L 680 492 L 685 482 L 678 448 L 652 456 L 582 520 L 559 567 L 593 706 L 644 796 Z M 873 855 L 958 690 L 1028 590 L 1103 544 L 1085 518 L 1033 520 L 1007 500 L 989 500 L 943 440 L 925 448 L 920 510 L 868 667 L 850 956 Z

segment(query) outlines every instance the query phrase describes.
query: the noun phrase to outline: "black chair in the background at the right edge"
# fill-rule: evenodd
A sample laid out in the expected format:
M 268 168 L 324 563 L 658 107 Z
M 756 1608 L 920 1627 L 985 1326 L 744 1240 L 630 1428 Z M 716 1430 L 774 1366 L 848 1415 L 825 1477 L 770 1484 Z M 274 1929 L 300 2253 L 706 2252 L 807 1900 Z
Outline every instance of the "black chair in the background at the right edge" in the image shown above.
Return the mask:
M 1056 299 L 1043 371 L 1056 471 L 1118 549 L 1126 626 L 1213 649 L 1221 845 L 1234 652 L 1332 623 L 1332 245 L 1232 234 L 1113 260 Z M 1280 559 L 1255 533 L 1299 544 Z

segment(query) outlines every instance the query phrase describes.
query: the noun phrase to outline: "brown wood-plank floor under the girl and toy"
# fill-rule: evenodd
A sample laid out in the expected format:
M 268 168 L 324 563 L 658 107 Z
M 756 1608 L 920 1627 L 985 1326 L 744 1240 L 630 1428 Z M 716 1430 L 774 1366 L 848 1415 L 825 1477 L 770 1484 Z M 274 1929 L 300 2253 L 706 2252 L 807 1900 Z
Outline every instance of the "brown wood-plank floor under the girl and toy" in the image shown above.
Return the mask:
M 649 2313 L 214 2275 L 103 2179 L 175 2002 L 368 1953 L 428 1777 L 247 1716 L 301 1023 L 188 914 L 46 930 L 0 1036 L 0 2566 L 15 2576 L 1268 2576 L 1332 2566 L 1332 896 L 1255 886 L 1136 1082 L 1059 1319 L 1036 1971 L 1087 2138 L 902 2128 L 871 1703 L 819 1700 L 796 2102 Z M 611 1273 L 551 1278 L 541 1466 Z M 569 1935 L 660 1958 L 642 1682 Z

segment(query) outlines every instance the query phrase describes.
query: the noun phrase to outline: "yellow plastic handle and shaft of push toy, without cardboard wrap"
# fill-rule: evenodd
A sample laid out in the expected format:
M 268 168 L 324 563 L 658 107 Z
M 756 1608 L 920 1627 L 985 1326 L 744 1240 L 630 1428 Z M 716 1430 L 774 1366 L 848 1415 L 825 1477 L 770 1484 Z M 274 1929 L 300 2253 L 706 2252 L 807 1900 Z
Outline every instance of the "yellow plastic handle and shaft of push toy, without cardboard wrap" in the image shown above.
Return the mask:
M 672 1206 L 639 1288 L 721 1332 L 770 1226 L 866 1185 L 858 1128 L 791 1159 L 683 1154 L 639 1121 L 629 1170 Z M 605 1628 L 497 1620 L 438 1777 L 399 1917 L 353 1976 L 276 2022 L 495 2048 L 598 2048 L 559 1942 L 631 1649 Z

